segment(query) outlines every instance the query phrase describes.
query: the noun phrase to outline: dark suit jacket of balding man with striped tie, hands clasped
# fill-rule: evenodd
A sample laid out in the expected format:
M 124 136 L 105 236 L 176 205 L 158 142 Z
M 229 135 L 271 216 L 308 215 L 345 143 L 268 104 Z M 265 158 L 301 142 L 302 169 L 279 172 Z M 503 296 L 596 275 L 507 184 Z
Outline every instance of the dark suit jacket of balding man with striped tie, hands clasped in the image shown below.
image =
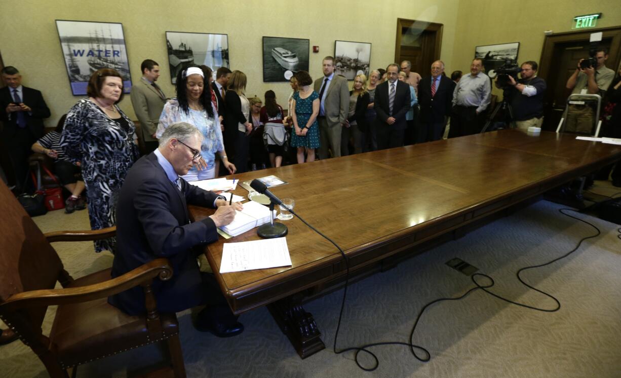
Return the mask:
M 397 86 L 394 94 L 394 104 L 392 104 L 392 114 L 390 114 L 390 106 L 388 102 L 388 84 L 386 80 L 375 89 L 375 99 L 373 108 L 377 114 L 375 119 L 378 127 L 392 127 L 394 130 L 406 129 L 406 113 L 410 109 L 410 86 L 403 81 L 396 81 Z M 396 121 L 389 125 L 386 123 L 389 117 L 394 117 Z

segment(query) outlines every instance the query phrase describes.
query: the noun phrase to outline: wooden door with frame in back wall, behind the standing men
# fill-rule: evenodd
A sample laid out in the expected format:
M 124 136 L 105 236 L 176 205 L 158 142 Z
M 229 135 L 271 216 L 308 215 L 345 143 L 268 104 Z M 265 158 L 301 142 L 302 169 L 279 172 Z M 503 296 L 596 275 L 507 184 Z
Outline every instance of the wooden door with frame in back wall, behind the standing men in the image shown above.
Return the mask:
M 412 62 L 412 72 L 422 76 L 429 73 L 431 64 L 440 58 L 442 24 L 397 19 L 394 62 Z

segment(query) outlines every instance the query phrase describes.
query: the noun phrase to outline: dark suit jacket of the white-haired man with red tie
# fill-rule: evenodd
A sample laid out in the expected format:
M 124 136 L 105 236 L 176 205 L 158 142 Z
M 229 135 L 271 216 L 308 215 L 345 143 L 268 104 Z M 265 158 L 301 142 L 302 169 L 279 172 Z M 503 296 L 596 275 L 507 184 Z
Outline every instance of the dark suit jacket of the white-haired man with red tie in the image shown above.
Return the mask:
M 419 83 L 420 122 L 443 123 L 445 116 L 451 113 L 455 83 L 446 76 L 440 76 L 440 85 L 432 98 L 431 77 L 427 76 Z

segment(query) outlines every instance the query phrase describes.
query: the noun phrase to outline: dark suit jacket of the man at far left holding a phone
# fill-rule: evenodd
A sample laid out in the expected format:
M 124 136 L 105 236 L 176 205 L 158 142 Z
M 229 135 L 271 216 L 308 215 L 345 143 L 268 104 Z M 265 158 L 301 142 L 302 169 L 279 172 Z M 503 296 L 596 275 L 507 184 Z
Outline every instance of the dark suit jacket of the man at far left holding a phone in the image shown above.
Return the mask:
M 13 94 L 9 86 L 0 89 L 0 119 L 4 127 L 2 129 L 2 137 L 12 137 L 17 131 L 17 114 L 11 113 L 11 119 L 9 120 L 9 113 L 6 113 L 6 107 L 9 103 L 14 102 Z M 27 127 L 35 137 L 40 138 L 43 136 L 43 119 L 50 116 L 50 109 L 43 100 L 43 95 L 40 91 L 22 86 L 22 103 L 30 106 L 32 112 L 24 112 L 26 116 Z M 32 113 L 32 114 L 29 114 Z

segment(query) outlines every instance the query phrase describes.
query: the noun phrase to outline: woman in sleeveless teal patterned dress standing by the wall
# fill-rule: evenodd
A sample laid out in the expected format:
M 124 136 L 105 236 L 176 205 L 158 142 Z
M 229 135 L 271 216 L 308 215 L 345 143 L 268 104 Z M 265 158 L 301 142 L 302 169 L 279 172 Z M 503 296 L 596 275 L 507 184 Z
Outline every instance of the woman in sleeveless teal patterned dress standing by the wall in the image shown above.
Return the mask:
M 293 94 L 291 104 L 291 147 L 297 147 L 297 162 L 315 161 L 315 149 L 319 148 L 319 94 L 312 90 L 312 78 L 307 71 L 296 73 L 299 91 Z

